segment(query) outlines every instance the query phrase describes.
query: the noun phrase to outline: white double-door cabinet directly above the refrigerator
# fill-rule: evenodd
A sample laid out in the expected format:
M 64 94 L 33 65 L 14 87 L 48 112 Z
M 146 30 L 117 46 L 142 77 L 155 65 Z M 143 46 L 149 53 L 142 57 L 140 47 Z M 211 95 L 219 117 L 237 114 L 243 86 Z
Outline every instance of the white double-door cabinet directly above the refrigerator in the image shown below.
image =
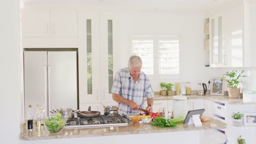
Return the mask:
M 78 47 L 77 10 L 25 7 L 21 14 L 23 47 Z

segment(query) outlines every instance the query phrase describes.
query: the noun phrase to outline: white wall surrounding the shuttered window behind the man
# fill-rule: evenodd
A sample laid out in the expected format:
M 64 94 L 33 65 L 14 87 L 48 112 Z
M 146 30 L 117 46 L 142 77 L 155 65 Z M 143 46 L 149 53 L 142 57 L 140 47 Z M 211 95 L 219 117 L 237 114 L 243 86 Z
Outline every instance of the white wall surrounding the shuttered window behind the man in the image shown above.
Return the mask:
M 151 80 L 154 91 L 160 91 L 160 82 L 197 83 L 213 76 L 221 76 L 218 69 L 205 68 L 203 51 L 203 14 L 200 13 L 121 13 L 119 67 L 126 67 L 131 55 L 131 35 L 182 35 L 181 77 Z M 174 89 L 174 88 L 173 88 Z

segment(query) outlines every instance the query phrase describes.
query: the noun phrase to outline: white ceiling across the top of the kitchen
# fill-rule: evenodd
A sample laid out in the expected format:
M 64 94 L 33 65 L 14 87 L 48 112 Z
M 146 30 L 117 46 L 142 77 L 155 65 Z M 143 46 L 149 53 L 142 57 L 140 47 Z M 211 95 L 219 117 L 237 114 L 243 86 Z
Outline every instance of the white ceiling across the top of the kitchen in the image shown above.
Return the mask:
M 20 0 L 22 4 L 85 4 L 121 9 L 203 12 L 242 0 Z

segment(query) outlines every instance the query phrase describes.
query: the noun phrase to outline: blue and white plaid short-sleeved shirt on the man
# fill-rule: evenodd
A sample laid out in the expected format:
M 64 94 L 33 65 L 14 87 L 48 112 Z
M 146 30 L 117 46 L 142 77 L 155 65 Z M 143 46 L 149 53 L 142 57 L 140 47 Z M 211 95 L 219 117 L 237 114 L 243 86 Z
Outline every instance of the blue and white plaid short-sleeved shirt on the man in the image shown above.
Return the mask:
M 128 68 L 120 69 L 117 72 L 111 92 L 122 95 L 125 99 L 134 101 L 139 105 L 139 107 L 144 107 L 145 98 L 154 97 L 153 89 L 146 74 L 141 71 L 138 80 L 134 83 Z M 128 105 L 118 104 L 119 114 L 139 112 L 140 111 L 133 111 Z

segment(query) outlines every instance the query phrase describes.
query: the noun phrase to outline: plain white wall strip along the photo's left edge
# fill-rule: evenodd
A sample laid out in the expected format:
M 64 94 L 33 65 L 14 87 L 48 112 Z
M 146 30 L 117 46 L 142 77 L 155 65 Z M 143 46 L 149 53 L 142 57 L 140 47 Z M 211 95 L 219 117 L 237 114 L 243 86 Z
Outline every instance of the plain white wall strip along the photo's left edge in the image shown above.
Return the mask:
M 19 143 L 21 55 L 19 0 L 0 1 L 1 143 Z

